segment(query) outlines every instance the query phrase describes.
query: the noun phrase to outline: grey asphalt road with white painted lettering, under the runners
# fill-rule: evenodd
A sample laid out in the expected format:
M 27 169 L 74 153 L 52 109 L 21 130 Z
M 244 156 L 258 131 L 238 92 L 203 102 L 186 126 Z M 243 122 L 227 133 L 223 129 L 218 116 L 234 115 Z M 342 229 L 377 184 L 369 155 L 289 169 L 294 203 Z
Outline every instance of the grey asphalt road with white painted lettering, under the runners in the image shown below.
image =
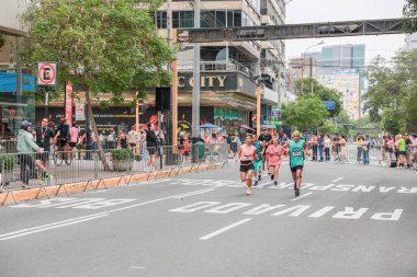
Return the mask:
M 230 169 L 0 208 L 0 276 L 417 276 L 417 172 Z

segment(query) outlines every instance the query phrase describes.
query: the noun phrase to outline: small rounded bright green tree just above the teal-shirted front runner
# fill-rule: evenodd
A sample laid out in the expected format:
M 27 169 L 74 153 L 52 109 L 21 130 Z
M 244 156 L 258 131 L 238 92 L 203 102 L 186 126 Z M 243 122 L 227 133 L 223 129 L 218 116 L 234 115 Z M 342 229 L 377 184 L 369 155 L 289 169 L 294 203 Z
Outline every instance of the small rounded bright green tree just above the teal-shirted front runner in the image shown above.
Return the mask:
M 301 130 L 316 129 L 328 117 L 322 100 L 315 95 L 298 97 L 282 107 L 282 122 L 286 126 L 294 126 Z

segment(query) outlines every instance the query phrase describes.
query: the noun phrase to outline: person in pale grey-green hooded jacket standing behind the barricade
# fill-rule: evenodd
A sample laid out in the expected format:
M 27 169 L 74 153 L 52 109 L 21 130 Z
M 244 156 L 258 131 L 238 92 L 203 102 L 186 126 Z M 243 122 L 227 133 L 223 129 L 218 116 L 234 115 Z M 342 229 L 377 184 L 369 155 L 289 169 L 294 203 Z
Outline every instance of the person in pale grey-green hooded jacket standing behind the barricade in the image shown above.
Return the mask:
M 36 168 L 38 168 L 46 177 L 46 169 L 42 165 L 40 160 L 35 160 L 33 152 L 43 153 L 44 149 L 38 147 L 32 135 L 32 124 L 27 120 L 22 122 L 21 129 L 18 135 L 18 147 L 19 162 L 20 162 L 20 177 L 22 180 L 22 187 L 26 188 L 29 186 L 29 180 L 31 177 L 36 177 Z M 27 170 L 29 168 L 29 170 Z

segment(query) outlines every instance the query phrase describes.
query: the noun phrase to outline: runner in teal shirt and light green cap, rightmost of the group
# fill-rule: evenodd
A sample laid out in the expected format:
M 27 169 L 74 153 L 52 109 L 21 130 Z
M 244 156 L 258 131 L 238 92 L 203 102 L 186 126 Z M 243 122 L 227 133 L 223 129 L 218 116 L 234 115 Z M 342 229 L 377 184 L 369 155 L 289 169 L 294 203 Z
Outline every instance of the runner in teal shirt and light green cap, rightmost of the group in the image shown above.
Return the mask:
M 300 131 L 293 132 L 293 139 L 285 142 L 285 151 L 290 152 L 290 169 L 294 180 L 295 197 L 300 196 L 301 180 L 304 166 L 304 155 L 307 154 L 307 143 L 300 139 Z

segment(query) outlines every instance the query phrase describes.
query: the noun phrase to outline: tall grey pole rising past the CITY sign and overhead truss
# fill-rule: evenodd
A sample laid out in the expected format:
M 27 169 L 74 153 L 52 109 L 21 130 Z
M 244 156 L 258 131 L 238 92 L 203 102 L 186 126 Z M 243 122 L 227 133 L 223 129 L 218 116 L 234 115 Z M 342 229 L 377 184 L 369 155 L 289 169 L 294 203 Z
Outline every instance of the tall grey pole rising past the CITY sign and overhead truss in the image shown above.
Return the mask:
M 194 28 L 200 28 L 200 0 L 194 1 Z M 200 132 L 200 44 L 194 44 L 194 71 L 192 89 L 192 142 L 199 141 Z

